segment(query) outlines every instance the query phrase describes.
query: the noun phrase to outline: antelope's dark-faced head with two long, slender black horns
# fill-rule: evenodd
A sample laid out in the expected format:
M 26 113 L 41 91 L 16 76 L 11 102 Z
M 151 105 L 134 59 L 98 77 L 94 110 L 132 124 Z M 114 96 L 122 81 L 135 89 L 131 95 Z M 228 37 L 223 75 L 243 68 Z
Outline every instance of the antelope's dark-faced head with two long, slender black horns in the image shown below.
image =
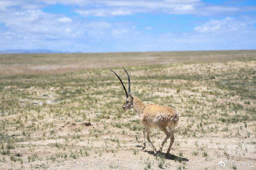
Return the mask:
M 125 70 L 126 74 L 127 74 L 127 77 L 128 77 L 128 92 L 126 91 L 126 88 L 125 88 L 125 85 L 123 85 L 123 81 L 122 79 L 118 76 L 118 74 L 115 73 L 115 71 L 113 71 L 113 73 L 115 73 L 115 75 L 118 77 L 118 79 L 120 80 L 122 86 L 123 86 L 123 89 L 125 90 L 125 94 L 126 94 L 126 102 L 125 104 L 123 104 L 122 108 L 123 110 L 129 110 L 130 108 L 133 108 L 133 96 L 131 96 L 131 86 L 130 86 L 130 75 L 129 73 L 126 71 L 125 67 L 123 67 L 123 70 Z

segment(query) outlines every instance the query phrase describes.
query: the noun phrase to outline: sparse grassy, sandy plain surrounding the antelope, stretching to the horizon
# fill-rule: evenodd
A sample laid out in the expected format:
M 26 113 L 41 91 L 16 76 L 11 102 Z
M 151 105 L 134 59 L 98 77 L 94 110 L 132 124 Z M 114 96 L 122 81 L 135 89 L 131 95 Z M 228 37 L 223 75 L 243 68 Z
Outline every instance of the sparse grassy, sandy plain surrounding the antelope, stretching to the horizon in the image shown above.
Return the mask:
M 141 53 L 144 65 L 136 63 L 138 53 L 118 54 L 106 54 L 105 63 L 81 54 L 56 55 L 59 62 L 1 55 L 0 169 L 218 169 L 224 160 L 226 169 L 256 168 L 255 51 Z M 29 67 L 73 60 L 94 67 L 34 75 Z M 125 94 L 107 64 L 129 65 L 131 91 L 145 103 L 179 110 L 171 155 L 154 155 L 148 143 L 141 150 L 143 126 L 132 110 L 122 110 Z M 120 67 L 113 69 L 126 80 Z M 159 148 L 165 135 L 159 129 L 151 135 Z

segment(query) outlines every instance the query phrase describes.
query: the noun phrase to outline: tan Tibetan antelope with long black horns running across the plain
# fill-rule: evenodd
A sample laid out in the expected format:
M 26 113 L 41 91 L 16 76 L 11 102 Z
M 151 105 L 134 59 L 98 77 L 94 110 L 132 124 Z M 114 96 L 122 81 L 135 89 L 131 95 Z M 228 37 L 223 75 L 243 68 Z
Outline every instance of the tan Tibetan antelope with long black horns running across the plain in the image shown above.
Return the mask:
M 118 76 L 118 74 L 115 73 L 115 75 L 118 77 L 120 80 L 123 89 L 125 90 L 126 94 L 126 102 L 123 104 L 122 108 L 123 110 L 129 110 L 130 108 L 134 108 L 134 110 L 137 112 L 137 114 L 140 116 L 141 122 L 145 125 L 145 129 L 143 131 L 144 135 L 144 147 L 146 147 L 145 143 L 145 133 L 147 132 L 147 140 L 151 144 L 152 148 L 154 149 L 155 152 L 157 150 L 155 149 L 155 146 L 152 144 L 150 140 L 150 128 L 151 127 L 158 127 L 161 129 L 161 131 L 165 132 L 166 138 L 163 140 L 161 147 L 159 149 L 159 152 L 162 151 L 163 145 L 166 143 L 166 140 L 170 138 L 170 145 L 168 147 L 168 150 L 166 152 L 166 155 L 169 154 L 170 148 L 172 147 L 172 144 L 174 142 L 174 136 L 173 136 L 173 130 L 178 124 L 179 121 L 179 115 L 177 114 L 177 111 L 173 108 L 170 108 L 168 106 L 161 106 L 157 104 L 144 104 L 141 102 L 138 97 L 135 97 L 131 95 L 131 88 L 130 88 L 130 75 L 127 73 L 126 69 L 123 67 L 125 70 L 127 77 L 128 77 L 128 92 L 126 91 L 125 85 L 123 85 L 122 79 Z

